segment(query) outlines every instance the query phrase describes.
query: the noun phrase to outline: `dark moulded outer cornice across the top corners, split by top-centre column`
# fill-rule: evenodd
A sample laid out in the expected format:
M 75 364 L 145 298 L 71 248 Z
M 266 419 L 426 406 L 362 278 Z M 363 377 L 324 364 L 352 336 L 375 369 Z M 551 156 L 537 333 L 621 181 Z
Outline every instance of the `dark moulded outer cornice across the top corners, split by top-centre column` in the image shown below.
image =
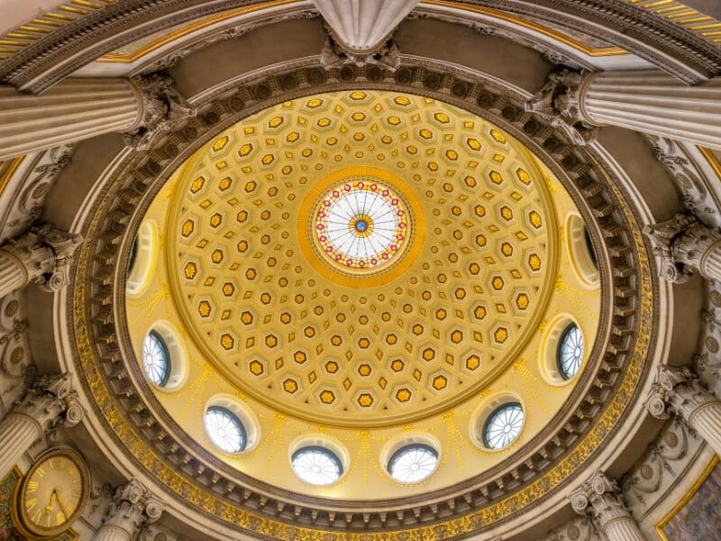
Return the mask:
M 671 21 L 618 0 L 460 0 L 445 5 L 457 5 L 461 14 L 464 6 L 482 6 L 561 23 L 632 51 L 690 84 L 721 73 L 721 48 Z M 259 6 L 259 10 L 281 6 L 280 13 L 269 10 L 270 22 L 316 16 L 306 1 L 243 0 L 240 6 Z M 0 61 L 0 80 L 40 93 L 92 60 L 132 41 L 238 8 L 239 3 L 232 0 L 125 0 L 102 5 L 92 12 L 86 10 L 79 16 L 76 13 L 71 21 L 50 19 L 59 27 L 32 34 L 31 41 L 23 41 L 22 48 Z M 73 9 L 78 11 L 77 7 Z M 434 16 L 433 4 L 424 4 L 422 9 L 428 16 Z M 439 14 L 443 15 L 440 7 Z M 15 29 L 9 33 L 23 32 Z M 5 39 L 10 38 L 6 35 Z M 15 38 L 10 41 L 21 42 Z

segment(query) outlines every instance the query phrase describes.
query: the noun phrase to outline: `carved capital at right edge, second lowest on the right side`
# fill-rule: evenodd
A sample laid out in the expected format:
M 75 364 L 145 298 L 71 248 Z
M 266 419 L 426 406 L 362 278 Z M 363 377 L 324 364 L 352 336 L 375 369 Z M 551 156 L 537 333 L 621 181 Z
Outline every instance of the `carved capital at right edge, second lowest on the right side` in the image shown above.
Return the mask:
M 675 415 L 691 426 L 698 408 L 714 402 L 717 402 L 714 394 L 689 367 L 659 366 L 647 407 L 653 417 L 666 419 Z

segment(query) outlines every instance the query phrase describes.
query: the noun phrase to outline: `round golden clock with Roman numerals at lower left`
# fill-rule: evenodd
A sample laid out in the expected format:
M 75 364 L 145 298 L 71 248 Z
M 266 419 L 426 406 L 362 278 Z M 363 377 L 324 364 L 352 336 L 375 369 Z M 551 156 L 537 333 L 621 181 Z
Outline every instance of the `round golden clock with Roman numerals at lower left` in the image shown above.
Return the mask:
M 68 450 L 51 452 L 35 463 L 23 480 L 20 518 L 38 536 L 65 530 L 87 500 L 87 470 Z

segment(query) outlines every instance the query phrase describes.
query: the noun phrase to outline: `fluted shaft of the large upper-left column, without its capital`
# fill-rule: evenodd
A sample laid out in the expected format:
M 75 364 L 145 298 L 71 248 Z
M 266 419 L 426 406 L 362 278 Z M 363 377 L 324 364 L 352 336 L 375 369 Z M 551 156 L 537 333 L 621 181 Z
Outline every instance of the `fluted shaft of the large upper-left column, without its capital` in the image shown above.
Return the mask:
M 67 78 L 41 96 L 0 87 L 0 160 L 131 132 L 142 118 L 141 92 L 126 78 Z

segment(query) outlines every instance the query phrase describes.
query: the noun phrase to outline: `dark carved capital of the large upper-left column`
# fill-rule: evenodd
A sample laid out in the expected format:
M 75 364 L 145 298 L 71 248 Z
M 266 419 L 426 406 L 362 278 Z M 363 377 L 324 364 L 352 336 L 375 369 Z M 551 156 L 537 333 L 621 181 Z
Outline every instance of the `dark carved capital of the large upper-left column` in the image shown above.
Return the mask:
M 132 78 L 142 99 L 142 119 L 132 132 L 124 133 L 123 140 L 135 150 L 150 147 L 158 134 L 178 128 L 197 114 L 175 87 L 173 79 L 165 73 L 151 73 Z

